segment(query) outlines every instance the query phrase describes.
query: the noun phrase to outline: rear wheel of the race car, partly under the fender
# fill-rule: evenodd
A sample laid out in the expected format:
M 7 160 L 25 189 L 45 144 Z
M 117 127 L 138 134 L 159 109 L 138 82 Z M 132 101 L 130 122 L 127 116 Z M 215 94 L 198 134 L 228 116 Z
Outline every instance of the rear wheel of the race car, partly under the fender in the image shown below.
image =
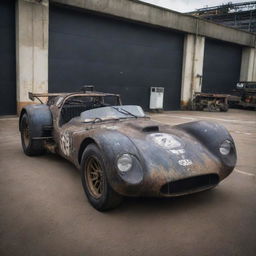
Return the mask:
M 27 156 L 38 156 L 44 153 L 43 144 L 40 140 L 31 139 L 31 129 L 27 114 L 23 114 L 20 122 L 21 143 L 24 153 Z

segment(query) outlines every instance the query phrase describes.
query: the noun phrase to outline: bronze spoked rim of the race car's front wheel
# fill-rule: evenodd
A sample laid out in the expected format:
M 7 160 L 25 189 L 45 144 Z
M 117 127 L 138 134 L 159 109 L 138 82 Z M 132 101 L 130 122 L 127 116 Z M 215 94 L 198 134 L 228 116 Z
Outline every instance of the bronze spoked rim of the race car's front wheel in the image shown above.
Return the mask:
M 99 160 L 92 156 L 87 160 L 85 175 L 90 194 L 98 199 L 103 193 L 103 171 Z

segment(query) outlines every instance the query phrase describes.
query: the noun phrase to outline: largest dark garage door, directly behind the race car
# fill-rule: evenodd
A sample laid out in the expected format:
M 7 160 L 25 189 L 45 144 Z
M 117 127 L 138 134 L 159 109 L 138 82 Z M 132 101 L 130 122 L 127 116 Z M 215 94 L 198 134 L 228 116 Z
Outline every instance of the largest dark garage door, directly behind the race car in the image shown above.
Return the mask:
M 49 91 L 93 84 L 148 109 L 161 86 L 164 108 L 180 107 L 183 34 L 55 5 L 49 30 Z

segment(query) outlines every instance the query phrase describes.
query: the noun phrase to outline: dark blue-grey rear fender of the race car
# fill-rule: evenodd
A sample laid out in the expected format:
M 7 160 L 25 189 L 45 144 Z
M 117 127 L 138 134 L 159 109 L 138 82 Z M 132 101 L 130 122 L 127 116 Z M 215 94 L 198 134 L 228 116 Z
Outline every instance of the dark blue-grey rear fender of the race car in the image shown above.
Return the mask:
M 47 131 L 52 128 L 52 113 L 49 106 L 32 104 L 24 107 L 19 118 L 19 130 L 21 129 L 21 118 L 25 113 L 28 115 L 32 139 L 47 136 Z

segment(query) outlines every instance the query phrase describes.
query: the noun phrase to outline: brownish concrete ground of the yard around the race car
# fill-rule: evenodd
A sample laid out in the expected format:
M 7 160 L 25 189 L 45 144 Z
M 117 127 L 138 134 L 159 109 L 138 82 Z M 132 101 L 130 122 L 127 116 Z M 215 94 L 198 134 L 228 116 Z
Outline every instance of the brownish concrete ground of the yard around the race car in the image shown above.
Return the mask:
M 176 199 L 127 199 L 100 213 L 78 171 L 23 154 L 16 118 L 0 119 L 0 255 L 256 255 L 256 113 L 165 112 L 162 123 L 212 120 L 235 139 L 235 171 L 216 189 Z

